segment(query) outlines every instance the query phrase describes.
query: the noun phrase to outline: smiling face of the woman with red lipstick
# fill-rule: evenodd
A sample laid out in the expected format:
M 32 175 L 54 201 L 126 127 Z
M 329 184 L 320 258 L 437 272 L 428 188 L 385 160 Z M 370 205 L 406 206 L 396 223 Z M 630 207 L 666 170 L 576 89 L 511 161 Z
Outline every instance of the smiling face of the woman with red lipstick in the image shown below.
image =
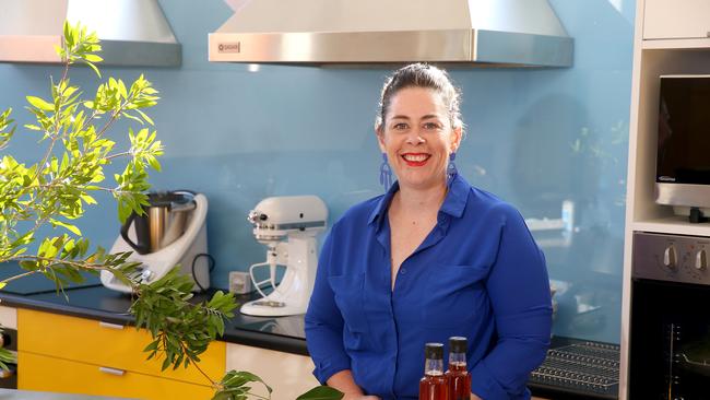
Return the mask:
M 392 96 L 378 140 L 401 187 L 428 189 L 446 184 L 449 154 L 461 142 L 437 92 L 402 89 Z

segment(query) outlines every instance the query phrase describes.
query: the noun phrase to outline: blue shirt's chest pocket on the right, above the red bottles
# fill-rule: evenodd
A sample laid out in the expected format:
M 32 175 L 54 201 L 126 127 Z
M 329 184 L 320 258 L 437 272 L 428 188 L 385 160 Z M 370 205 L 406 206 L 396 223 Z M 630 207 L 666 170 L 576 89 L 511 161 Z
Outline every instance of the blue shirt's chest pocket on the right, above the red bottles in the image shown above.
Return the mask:
M 481 318 L 488 306 L 484 281 L 488 269 L 439 266 L 427 275 L 422 318 L 425 327 L 455 328 Z

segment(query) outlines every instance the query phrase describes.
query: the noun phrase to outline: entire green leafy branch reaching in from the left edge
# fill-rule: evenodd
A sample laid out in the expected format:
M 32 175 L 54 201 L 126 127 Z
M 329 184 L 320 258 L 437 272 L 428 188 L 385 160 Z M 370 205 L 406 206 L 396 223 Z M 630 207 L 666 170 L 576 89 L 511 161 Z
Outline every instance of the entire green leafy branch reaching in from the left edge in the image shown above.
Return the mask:
M 130 85 L 109 78 L 99 84 L 93 99 L 82 98 L 79 86 L 72 85 L 69 68 L 83 62 L 98 78 L 95 63 L 100 45 L 94 33 L 85 27 L 64 23 L 62 46 L 57 48 L 64 69 L 61 79 L 51 80 L 51 97 L 27 96 L 27 110 L 36 122 L 24 127 L 39 132 L 39 143 L 46 149 L 36 164 L 25 165 L 10 154 L 0 155 L 0 264 L 16 261 L 26 272 L 0 281 L 0 289 L 9 282 L 40 273 L 63 292 L 69 283 L 84 281 L 82 272 L 98 274 L 109 271 L 119 281 L 130 285 L 135 294 L 131 313 L 138 329 L 151 332 L 152 342 L 144 349 L 147 358 L 163 357 L 163 369 L 193 365 L 215 388 L 215 399 L 244 400 L 262 398 L 250 392 L 249 383 L 263 384 L 247 372 L 228 372 L 214 381 L 200 369 L 199 361 L 209 343 L 224 333 L 224 320 L 233 316 L 236 303 L 232 294 L 216 292 L 209 302 L 194 304 L 192 281 L 173 269 L 152 284 L 139 281 L 139 262 L 131 261 L 131 252 L 107 254 L 97 247 L 90 251 L 90 242 L 82 237 L 76 220 L 85 207 L 96 203 L 93 195 L 105 191 L 117 200 L 118 219 L 123 222 L 135 212 L 143 214 L 147 205 L 149 169 L 161 170 L 157 161 L 163 146 L 155 130 L 129 128 L 130 146 L 115 151 L 116 142 L 107 138 L 114 122 L 131 119 L 142 126 L 153 126 L 144 109 L 157 104 L 157 91 L 143 75 Z M 12 109 L 0 113 L 0 150 L 9 146 L 16 126 Z M 115 174 L 116 185 L 105 185 L 104 168 L 117 160 L 127 160 L 122 173 Z M 36 234 L 51 225 L 62 233 L 45 238 Z M 36 251 L 31 246 L 38 243 Z M 66 294 L 64 294 L 66 295 Z M 13 356 L 0 349 L 0 367 Z M 340 399 L 342 393 L 318 387 L 298 399 Z

